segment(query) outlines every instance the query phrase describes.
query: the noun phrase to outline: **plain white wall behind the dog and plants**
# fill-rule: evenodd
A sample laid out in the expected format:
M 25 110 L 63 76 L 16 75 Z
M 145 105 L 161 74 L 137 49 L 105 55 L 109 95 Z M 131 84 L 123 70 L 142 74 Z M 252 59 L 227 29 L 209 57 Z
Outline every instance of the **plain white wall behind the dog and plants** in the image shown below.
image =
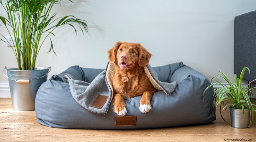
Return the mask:
M 89 33 L 76 36 L 68 26 L 56 30 L 52 41 L 57 56 L 47 53 L 47 41 L 37 66 L 51 66 L 49 76 L 73 65 L 105 68 L 108 49 L 116 41 L 127 41 L 141 43 L 153 54 L 151 66 L 183 61 L 209 79 L 217 70 L 232 78 L 234 18 L 255 8 L 255 0 L 77 0 L 54 10 L 57 17 L 87 20 Z M 0 33 L 7 35 L 1 26 Z M 0 42 L 0 69 L 5 66 L 17 63 L 12 49 Z M 0 97 L 7 88 L 8 79 L 0 74 Z

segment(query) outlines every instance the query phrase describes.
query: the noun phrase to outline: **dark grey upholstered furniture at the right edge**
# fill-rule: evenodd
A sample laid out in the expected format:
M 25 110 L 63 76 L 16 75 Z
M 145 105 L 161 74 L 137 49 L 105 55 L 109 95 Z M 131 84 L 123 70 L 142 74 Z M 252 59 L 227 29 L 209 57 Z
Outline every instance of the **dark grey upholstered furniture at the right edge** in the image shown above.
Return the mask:
M 234 22 L 234 74 L 238 77 L 244 67 L 244 80 L 256 79 L 256 11 L 235 17 Z M 254 82 L 256 83 L 256 82 Z

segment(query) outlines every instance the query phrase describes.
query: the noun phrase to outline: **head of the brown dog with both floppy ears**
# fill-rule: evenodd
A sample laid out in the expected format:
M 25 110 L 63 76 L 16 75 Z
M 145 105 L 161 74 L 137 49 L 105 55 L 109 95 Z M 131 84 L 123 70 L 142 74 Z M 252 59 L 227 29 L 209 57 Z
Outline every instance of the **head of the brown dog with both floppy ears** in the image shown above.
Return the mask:
M 151 56 L 140 43 L 117 42 L 108 50 L 109 62 L 120 66 L 121 69 L 147 66 Z

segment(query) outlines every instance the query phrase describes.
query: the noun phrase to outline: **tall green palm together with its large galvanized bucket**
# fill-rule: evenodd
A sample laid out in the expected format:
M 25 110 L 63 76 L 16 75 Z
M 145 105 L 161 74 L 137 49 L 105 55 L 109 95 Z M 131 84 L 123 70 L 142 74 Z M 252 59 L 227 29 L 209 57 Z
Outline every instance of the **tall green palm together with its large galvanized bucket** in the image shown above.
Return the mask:
M 0 15 L 0 23 L 7 29 L 11 40 L 0 33 L 0 40 L 9 44 L 17 60 L 18 68 L 7 70 L 14 110 L 34 110 L 36 92 L 40 85 L 47 80 L 49 68 L 36 67 L 36 58 L 43 43 L 50 39 L 50 51 L 53 51 L 53 31 L 63 25 L 80 28 L 87 32 L 85 20 L 75 16 L 56 18 L 52 7 L 61 4 L 63 0 L 0 0 L 7 17 Z M 67 2 L 67 1 L 65 1 Z M 72 2 L 69 0 L 69 2 Z M 1 26 L 2 27 L 2 26 Z M 55 52 L 54 52 L 55 54 Z

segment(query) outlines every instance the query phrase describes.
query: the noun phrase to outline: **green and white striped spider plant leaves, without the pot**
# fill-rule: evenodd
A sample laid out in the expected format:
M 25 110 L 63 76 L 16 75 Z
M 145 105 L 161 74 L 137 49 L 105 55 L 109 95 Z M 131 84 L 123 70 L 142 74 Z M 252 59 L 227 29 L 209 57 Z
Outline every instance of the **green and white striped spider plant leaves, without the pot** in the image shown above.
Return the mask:
M 244 114 L 244 109 L 249 109 L 250 118 L 251 118 L 249 126 L 251 126 L 252 120 L 253 120 L 253 111 L 256 112 L 256 107 L 255 107 L 256 105 L 252 104 L 252 100 L 250 100 L 250 98 L 252 98 L 252 95 L 248 96 L 247 94 L 248 92 L 252 94 L 252 90 L 255 89 L 256 87 L 254 88 L 249 87 L 250 83 L 252 83 L 255 80 L 251 81 L 246 86 L 242 86 L 242 80 L 243 80 L 244 72 L 246 69 L 249 71 L 249 74 L 250 74 L 250 69 L 248 67 L 244 67 L 240 74 L 240 78 L 237 78 L 236 74 L 234 75 L 235 83 L 233 83 L 227 77 L 227 75 L 219 71 L 220 74 L 212 78 L 211 80 L 212 84 L 208 86 L 205 89 L 205 91 L 214 85 L 220 85 L 221 87 L 216 89 L 213 94 L 213 97 L 214 97 L 213 107 L 217 107 L 219 105 L 220 112 L 222 107 L 223 107 L 223 110 L 226 110 L 228 107 L 231 107 L 234 109 L 241 109 L 243 111 L 243 114 Z M 228 85 L 216 80 L 217 77 L 224 79 L 224 81 L 228 83 Z M 225 122 L 227 122 L 223 118 L 221 113 L 220 115 L 221 115 L 221 118 Z

